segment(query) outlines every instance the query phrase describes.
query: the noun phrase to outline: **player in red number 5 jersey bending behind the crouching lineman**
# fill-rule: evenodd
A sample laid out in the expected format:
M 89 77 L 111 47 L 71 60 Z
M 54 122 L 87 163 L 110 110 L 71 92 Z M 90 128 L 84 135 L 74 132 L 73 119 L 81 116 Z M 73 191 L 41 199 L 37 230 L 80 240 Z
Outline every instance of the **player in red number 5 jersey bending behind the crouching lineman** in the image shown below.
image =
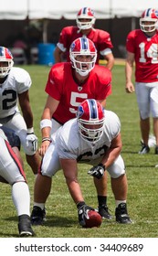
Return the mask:
M 41 225 L 45 217 L 45 203 L 51 189 L 50 170 L 57 164 L 53 162 L 49 152 L 54 133 L 61 125 L 76 117 L 82 101 L 94 98 L 105 106 L 106 98 L 111 94 L 111 71 L 99 65 L 95 66 L 97 50 L 90 39 L 79 37 L 73 41 L 69 55 L 71 62 L 55 64 L 48 75 L 47 102 L 40 122 L 42 144 L 39 154 L 43 159 L 35 183 L 34 208 L 31 215 L 34 225 Z M 106 205 L 107 176 L 103 179 L 104 191 L 101 191 L 101 196 L 100 181 L 94 178 L 94 183 L 99 191 L 101 216 L 111 219 Z

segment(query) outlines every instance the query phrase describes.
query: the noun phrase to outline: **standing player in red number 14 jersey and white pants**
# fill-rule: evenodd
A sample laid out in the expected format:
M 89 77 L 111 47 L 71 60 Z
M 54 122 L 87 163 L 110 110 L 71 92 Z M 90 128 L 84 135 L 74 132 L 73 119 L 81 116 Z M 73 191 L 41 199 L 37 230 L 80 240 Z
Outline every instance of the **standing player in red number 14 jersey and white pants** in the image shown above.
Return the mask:
M 141 29 L 127 36 L 126 92 L 136 92 L 140 112 L 142 149 L 139 154 L 150 151 L 150 113 L 153 117 L 155 154 L 158 155 L 158 11 L 149 8 L 140 18 Z M 135 90 L 132 84 L 132 69 L 135 61 Z

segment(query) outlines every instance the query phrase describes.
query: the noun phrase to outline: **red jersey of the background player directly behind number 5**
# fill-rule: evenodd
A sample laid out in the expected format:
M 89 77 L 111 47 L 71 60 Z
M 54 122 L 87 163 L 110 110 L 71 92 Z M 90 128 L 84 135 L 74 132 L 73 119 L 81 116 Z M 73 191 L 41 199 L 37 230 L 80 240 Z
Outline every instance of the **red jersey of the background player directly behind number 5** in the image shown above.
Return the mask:
M 64 27 L 60 33 L 58 43 L 62 44 L 66 48 L 67 60 L 69 61 L 69 47 L 71 43 L 79 38 L 84 37 L 79 31 L 78 27 Z M 100 51 L 105 50 L 106 48 L 113 48 L 111 43 L 110 34 L 104 30 L 100 29 L 91 29 L 90 33 L 86 36 L 88 37 L 97 48 L 98 58 L 96 63 L 99 64 Z

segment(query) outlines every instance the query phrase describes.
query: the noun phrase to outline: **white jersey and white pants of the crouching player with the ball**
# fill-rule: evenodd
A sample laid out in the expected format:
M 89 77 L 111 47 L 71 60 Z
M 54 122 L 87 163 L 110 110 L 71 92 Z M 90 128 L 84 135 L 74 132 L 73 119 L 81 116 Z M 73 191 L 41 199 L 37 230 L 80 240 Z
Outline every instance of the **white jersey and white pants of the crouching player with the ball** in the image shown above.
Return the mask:
M 76 159 L 78 163 L 98 165 L 111 141 L 121 132 L 121 122 L 111 111 L 105 111 L 103 134 L 96 143 L 84 140 L 79 133 L 77 119 L 71 119 L 52 135 L 52 143 L 43 157 L 40 172 L 43 176 L 54 176 L 61 169 L 59 158 Z M 112 177 L 124 173 L 121 155 L 108 168 Z

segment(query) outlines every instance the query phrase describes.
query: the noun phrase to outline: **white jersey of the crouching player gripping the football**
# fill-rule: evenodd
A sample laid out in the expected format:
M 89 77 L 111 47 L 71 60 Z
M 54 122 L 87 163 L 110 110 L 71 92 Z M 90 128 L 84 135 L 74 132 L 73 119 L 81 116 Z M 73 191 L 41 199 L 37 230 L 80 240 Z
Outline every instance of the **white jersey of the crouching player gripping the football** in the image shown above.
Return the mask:
M 111 146 L 111 141 L 120 133 L 121 123 L 118 116 L 111 111 L 105 112 L 103 134 L 96 143 L 91 143 L 81 137 L 77 119 L 65 123 L 57 133 L 56 144 L 60 158 L 77 159 L 79 163 L 93 165 L 105 155 Z

